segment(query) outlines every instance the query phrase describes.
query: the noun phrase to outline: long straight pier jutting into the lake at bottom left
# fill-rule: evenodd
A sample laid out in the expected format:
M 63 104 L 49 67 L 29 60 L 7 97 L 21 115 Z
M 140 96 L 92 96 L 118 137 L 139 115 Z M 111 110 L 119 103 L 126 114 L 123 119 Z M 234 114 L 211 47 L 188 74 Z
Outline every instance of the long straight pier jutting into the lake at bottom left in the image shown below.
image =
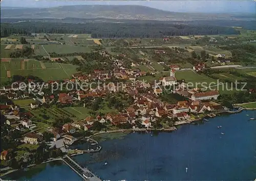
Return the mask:
M 90 171 L 86 167 L 82 167 L 79 163 L 71 159 L 70 156 L 63 157 L 63 162 L 65 162 L 72 170 L 74 170 L 83 180 L 87 181 L 102 181 L 102 179 Z

